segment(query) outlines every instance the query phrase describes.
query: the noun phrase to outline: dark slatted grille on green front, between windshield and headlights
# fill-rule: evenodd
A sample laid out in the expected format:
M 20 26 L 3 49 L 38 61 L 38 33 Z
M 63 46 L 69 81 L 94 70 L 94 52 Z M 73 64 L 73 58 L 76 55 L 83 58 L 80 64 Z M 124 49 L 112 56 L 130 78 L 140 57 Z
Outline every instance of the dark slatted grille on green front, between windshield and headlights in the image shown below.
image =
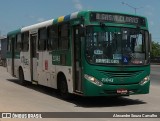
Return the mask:
M 108 76 L 109 78 L 114 78 L 114 77 L 133 77 L 137 76 L 141 73 L 143 73 L 143 70 L 139 71 L 103 71 L 103 70 L 98 70 L 104 75 Z

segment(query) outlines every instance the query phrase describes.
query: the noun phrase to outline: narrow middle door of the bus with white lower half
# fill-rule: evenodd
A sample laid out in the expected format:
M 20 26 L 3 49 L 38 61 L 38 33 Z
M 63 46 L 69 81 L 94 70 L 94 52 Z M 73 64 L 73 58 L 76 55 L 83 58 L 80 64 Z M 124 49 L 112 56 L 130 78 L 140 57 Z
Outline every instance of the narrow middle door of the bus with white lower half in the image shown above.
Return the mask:
M 37 84 L 37 34 L 30 35 L 30 72 L 32 83 Z

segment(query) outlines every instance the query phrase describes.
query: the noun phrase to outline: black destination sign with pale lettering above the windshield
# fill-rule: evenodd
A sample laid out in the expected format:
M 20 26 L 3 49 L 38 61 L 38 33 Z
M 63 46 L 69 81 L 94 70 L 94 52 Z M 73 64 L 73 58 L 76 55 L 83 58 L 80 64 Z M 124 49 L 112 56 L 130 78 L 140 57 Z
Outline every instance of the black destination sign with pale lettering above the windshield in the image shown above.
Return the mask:
M 144 18 L 131 15 L 93 12 L 90 17 L 91 21 L 126 23 L 145 26 Z

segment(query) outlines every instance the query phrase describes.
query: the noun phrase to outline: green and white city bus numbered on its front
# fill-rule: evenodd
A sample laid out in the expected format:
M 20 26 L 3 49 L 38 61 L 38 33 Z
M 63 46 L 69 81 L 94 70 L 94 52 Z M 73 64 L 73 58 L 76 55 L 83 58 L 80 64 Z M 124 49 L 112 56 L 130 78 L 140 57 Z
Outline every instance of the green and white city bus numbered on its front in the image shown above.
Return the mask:
M 147 94 L 150 43 L 147 19 L 80 11 L 11 31 L 7 70 L 58 89 L 62 97 Z

